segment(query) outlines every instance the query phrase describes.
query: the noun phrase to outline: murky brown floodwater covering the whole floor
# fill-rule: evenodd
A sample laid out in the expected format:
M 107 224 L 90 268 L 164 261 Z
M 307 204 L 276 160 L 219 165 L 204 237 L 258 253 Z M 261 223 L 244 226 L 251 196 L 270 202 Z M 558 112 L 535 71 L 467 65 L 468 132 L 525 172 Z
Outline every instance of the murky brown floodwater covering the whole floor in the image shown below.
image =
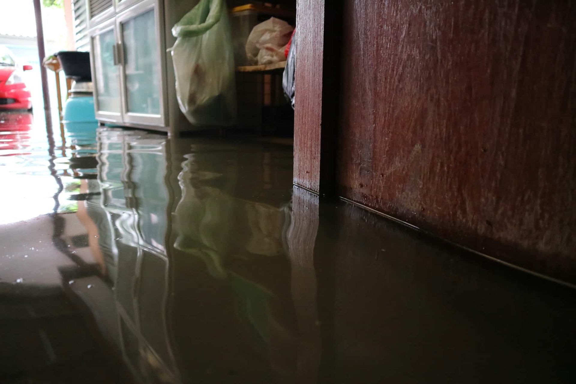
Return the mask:
M 574 290 L 293 187 L 285 143 L 0 114 L 2 383 L 574 383 Z

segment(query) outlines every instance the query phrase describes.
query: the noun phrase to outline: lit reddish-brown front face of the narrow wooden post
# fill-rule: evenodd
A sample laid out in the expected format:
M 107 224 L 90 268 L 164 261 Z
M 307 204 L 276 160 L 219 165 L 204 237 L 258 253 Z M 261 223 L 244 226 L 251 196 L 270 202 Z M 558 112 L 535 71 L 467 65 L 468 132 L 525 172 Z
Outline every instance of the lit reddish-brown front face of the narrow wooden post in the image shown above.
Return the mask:
M 297 0 L 294 184 L 320 191 L 324 1 Z

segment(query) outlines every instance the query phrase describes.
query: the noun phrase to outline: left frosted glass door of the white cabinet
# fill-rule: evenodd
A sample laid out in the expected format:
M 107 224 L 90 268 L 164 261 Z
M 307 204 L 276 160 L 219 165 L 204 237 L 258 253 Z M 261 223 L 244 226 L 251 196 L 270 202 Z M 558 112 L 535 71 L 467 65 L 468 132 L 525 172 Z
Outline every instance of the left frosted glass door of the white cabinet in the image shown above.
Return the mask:
M 122 113 L 120 102 L 120 74 L 115 61 L 116 31 L 112 24 L 97 31 L 92 37 L 94 82 L 96 86 L 96 117 L 119 120 Z

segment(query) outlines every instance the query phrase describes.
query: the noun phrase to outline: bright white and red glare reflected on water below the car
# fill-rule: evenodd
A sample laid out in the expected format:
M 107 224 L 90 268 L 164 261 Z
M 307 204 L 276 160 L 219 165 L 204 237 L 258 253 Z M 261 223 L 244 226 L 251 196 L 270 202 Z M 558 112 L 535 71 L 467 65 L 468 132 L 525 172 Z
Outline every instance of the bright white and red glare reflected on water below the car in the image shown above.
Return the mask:
M 96 127 L 93 127 L 85 139 L 85 147 L 92 146 L 93 151 L 96 150 L 95 134 Z M 83 157 L 81 151 L 76 153 L 74 145 L 60 145 L 58 154 L 54 154 L 55 144 L 52 149 L 47 146 L 43 121 L 29 112 L 0 112 L 0 140 L 0 178 L 6 185 L 2 188 L 2 201 L 10 201 L 2 207 L 0 225 L 48 214 L 55 209 L 57 212 L 75 210 L 76 204 L 71 199 L 77 191 L 78 179 L 88 177 L 84 170 L 96 176 L 95 169 L 82 168 L 95 167 L 93 154 Z M 74 140 L 74 135 L 70 135 L 70 141 Z M 56 208 L 55 195 L 59 196 Z

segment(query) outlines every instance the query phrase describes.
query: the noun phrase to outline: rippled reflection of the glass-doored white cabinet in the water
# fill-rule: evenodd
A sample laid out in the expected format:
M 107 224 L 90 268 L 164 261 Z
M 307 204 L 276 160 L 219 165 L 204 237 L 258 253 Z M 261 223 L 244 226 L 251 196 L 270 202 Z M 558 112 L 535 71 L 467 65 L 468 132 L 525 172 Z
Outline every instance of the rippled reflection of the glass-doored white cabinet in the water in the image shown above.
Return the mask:
M 177 375 L 166 318 L 170 265 L 165 238 L 171 206 L 164 180 L 167 152 L 162 136 L 113 129 L 98 133 L 100 206 L 107 215 L 99 233 L 109 238 L 115 253 L 116 272 L 109 277 L 118 344 L 138 382 L 164 382 L 154 379 L 159 372 L 170 380 Z

